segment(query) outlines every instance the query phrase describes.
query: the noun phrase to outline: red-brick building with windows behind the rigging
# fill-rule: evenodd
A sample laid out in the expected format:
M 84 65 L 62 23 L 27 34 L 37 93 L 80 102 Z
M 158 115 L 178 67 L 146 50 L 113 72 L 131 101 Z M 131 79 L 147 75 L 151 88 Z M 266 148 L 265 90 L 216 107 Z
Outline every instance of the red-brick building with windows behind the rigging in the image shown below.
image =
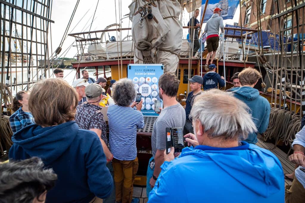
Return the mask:
M 257 9 L 259 14 L 257 14 Z M 289 12 L 292 10 L 293 12 Z M 284 36 L 297 37 L 298 24 L 299 32 L 305 33 L 305 29 L 303 29 L 304 10 L 305 3 L 302 3 L 301 0 L 296 0 L 296 5 L 294 0 L 258 0 L 258 6 L 256 0 L 245 0 L 242 1 L 242 22 L 239 20 L 239 25 L 257 29 L 259 25 L 257 16 L 259 15 L 261 30 L 275 34 L 279 34 L 279 30 L 282 30 Z M 298 13 L 298 18 L 296 18 L 295 11 Z M 300 39 L 302 36 L 300 34 Z

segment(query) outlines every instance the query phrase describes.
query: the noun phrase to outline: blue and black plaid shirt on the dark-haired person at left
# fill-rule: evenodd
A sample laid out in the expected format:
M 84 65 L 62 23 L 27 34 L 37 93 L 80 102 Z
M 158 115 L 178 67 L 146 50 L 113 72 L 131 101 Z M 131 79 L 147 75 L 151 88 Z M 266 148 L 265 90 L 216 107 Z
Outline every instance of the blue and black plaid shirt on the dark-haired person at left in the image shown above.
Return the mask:
M 20 107 L 11 115 L 11 117 L 9 117 L 9 122 L 11 124 L 13 133 L 34 123 L 33 119 L 31 119 L 30 116 L 22 110 L 22 107 Z

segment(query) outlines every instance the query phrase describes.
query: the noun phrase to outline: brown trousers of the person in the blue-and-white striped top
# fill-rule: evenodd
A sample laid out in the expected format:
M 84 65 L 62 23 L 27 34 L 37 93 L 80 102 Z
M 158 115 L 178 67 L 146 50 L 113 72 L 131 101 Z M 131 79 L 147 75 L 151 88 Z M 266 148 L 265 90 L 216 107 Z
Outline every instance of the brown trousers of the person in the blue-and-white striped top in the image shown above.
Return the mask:
M 130 203 L 133 194 L 133 183 L 138 171 L 138 157 L 131 161 L 121 161 L 113 158 L 114 183 L 116 201 Z

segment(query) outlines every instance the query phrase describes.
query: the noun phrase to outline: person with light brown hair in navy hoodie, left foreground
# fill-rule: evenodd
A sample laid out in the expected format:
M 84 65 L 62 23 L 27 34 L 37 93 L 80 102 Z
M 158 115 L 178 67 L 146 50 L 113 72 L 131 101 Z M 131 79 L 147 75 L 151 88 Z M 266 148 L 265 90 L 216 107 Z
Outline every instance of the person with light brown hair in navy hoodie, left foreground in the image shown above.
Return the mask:
M 61 91 L 54 91 L 54 87 Z M 64 92 L 64 94 L 63 94 Z M 29 109 L 36 124 L 12 137 L 10 160 L 39 157 L 53 168 L 58 180 L 46 202 L 88 203 L 102 201 L 113 190 L 113 179 L 99 137 L 79 129 L 74 121 L 77 93 L 62 79 L 37 83 L 30 94 Z

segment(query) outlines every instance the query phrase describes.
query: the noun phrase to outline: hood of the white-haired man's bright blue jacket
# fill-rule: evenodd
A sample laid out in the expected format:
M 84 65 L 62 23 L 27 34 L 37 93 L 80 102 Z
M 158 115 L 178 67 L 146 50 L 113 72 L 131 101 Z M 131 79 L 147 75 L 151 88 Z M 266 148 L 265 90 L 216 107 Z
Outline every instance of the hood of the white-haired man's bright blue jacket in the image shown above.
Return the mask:
M 186 147 L 180 157 L 188 155 L 210 158 L 236 181 L 265 198 L 278 193 L 284 182 L 284 178 L 278 177 L 283 173 L 278 158 L 270 151 L 246 142 L 225 150 L 210 146 Z

